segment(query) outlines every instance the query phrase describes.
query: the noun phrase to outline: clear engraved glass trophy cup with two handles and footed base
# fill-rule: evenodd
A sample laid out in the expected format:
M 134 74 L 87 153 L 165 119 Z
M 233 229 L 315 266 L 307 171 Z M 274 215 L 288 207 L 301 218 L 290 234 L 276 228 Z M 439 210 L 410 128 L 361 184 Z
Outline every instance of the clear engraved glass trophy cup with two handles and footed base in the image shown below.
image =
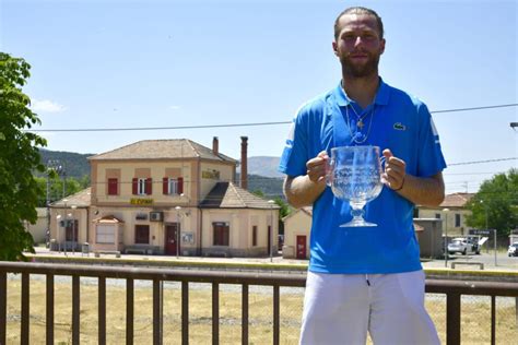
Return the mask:
M 340 227 L 377 226 L 363 217 L 365 204 L 382 189 L 381 159 L 378 146 L 340 146 L 331 148 L 326 180 L 333 194 L 351 206 L 351 222 Z

